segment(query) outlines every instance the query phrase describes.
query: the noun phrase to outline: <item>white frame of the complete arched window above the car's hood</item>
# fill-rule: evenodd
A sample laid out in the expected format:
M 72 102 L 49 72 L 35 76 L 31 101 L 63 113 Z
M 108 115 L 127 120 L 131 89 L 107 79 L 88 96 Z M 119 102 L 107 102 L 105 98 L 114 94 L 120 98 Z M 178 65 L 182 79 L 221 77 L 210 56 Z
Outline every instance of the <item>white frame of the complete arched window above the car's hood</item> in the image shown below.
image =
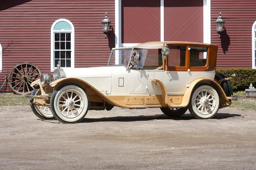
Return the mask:
M 56 23 L 60 22 L 60 21 L 66 21 L 67 23 L 70 24 L 72 30 L 53 30 L 54 26 L 56 25 Z M 70 40 L 71 40 L 71 67 L 66 67 L 66 68 L 74 68 L 75 67 L 75 29 L 74 29 L 74 25 L 72 24 L 71 21 L 67 20 L 67 19 L 58 19 L 56 21 L 54 21 L 54 23 L 52 24 L 51 27 L 51 72 L 53 72 L 55 70 L 55 66 L 54 66 L 54 33 L 71 33 L 70 34 Z

